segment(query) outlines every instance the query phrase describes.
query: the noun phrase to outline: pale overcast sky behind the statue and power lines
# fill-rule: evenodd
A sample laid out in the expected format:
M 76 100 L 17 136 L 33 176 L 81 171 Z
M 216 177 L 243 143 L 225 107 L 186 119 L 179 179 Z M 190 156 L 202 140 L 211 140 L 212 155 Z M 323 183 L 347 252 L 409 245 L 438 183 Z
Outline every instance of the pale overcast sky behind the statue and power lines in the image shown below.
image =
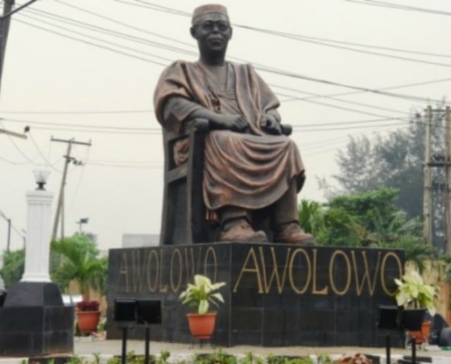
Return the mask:
M 409 112 L 428 100 L 450 100 L 450 1 L 389 1 L 438 12 L 376 6 L 381 1 L 219 1 L 235 24 L 230 58 L 296 76 L 259 70 L 282 101 L 283 122 L 295 127 L 307 168 L 299 198 L 323 199 L 316 176 L 333 184 L 335 156 L 349 135 L 372 139 L 407 127 Z M 210 2 L 40 0 L 13 15 L 0 128 L 22 132 L 30 125 L 31 137 L 0 134 L 0 211 L 19 232 L 26 228 L 25 192 L 35 188 L 32 170 L 51 170 L 47 189 L 56 203 L 67 145 L 50 142 L 54 136 L 92 142 L 73 148 L 85 165 L 70 165 L 66 234 L 78 230 L 80 218 L 89 218 L 84 229 L 97 234 L 101 249 L 121 246 L 123 233 L 159 233 L 163 153 L 152 95 L 164 65 L 197 59 L 183 13 Z M 390 89 L 395 96 L 358 92 L 446 79 Z M 362 123 L 348 123 L 354 121 Z M 2 250 L 6 227 L 0 217 Z M 13 230 L 11 249 L 22 244 Z

